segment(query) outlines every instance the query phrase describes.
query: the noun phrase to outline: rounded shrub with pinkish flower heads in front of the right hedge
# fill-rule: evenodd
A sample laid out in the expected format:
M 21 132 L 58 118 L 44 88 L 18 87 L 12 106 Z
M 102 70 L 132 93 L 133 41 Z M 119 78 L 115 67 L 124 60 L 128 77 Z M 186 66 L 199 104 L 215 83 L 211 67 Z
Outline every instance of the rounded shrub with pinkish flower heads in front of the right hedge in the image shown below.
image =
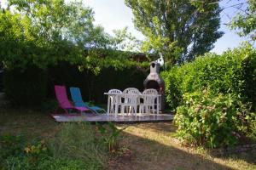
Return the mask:
M 210 148 L 236 144 L 241 127 L 237 106 L 231 95 L 184 94 L 183 105 L 177 107 L 174 117 L 177 137 L 185 144 Z

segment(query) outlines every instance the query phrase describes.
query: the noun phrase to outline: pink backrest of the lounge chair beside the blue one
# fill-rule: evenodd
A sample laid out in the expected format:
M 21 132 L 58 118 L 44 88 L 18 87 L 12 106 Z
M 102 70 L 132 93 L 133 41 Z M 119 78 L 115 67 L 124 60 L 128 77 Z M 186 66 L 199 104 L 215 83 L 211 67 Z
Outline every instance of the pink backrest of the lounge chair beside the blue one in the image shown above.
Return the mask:
M 55 85 L 55 96 L 58 100 L 60 107 L 62 108 L 73 108 L 73 105 L 69 102 L 67 98 L 67 90 L 65 86 Z

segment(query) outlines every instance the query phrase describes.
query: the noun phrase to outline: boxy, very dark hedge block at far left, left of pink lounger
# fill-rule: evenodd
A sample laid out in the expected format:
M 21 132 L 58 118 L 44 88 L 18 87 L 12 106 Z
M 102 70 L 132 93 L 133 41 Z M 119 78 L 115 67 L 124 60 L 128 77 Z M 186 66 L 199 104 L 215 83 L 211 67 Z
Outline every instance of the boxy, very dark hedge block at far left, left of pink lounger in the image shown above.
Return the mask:
M 45 71 L 37 67 L 4 72 L 4 92 L 12 105 L 41 105 L 46 95 L 46 83 Z

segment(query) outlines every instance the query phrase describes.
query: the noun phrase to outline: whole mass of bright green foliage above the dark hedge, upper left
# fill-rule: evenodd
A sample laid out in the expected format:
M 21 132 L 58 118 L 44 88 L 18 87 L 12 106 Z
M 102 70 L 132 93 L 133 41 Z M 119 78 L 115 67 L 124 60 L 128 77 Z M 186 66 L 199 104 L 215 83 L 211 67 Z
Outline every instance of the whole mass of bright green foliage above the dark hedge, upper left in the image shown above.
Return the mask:
M 93 11 L 81 0 L 5 2 L 0 6 L 0 66 L 6 70 L 46 69 L 60 60 L 95 73 L 137 64 L 131 54 L 116 50 L 134 47 L 127 29 L 108 35 L 93 25 Z

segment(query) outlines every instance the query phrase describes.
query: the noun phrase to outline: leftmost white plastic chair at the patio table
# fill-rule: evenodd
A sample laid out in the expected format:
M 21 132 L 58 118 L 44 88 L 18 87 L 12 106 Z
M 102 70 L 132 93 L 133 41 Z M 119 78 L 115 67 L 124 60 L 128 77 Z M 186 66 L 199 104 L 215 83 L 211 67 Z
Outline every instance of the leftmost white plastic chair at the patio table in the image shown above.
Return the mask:
M 108 105 L 110 105 L 109 113 L 114 114 L 116 110 L 118 111 L 119 105 L 121 104 L 120 96 L 114 94 L 122 94 L 122 91 L 120 91 L 119 89 L 111 89 L 108 91 L 108 94 L 113 94 L 108 95 Z

